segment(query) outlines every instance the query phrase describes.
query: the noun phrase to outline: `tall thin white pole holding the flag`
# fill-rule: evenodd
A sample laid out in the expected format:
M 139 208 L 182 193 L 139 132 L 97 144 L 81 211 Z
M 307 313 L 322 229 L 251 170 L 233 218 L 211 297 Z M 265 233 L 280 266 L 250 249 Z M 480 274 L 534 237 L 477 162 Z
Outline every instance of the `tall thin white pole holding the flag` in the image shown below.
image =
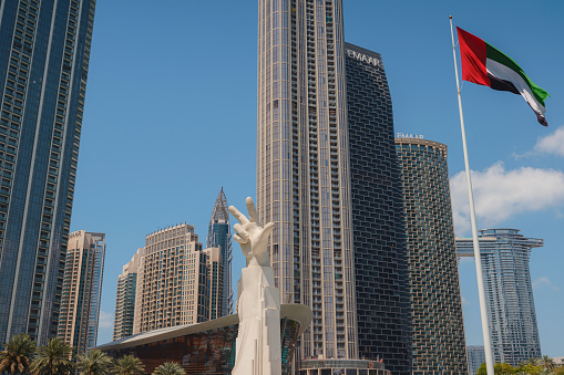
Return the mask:
M 462 132 L 462 148 L 464 150 L 464 167 L 466 169 L 468 200 L 470 204 L 470 222 L 472 223 L 472 240 L 474 243 L 475 274 L 478 279 L 478 295 L 480 298 L 480 315 L 482 317 L 482 335 L 484 340 L 485 367 L 488 375 L 494 375 L 493 356 L 490 338 L 490 326 L 488 324 L 488 311 L 485 310 L 485 291 L 482 274 L 482 258 L 480 257 L 480 241 L 478 240 L 478 226 L 475 223 L 474 195 L 472 192 L 472 180 L 470 179 L 470 163 L 468 162 L 466 132 L 464 131 L 464 116 L 462 115 L 462 96 L 460 95 L 459 67 L 457 65 L 457 48 L 454 45 L 454 31 L 452 29 L 452 15 L 450 19 L 450 33 L 452 38 L 452 56 L 454 58 L 454 74 L 457 76 L 457 91 L 459 93 L 460 128 Z

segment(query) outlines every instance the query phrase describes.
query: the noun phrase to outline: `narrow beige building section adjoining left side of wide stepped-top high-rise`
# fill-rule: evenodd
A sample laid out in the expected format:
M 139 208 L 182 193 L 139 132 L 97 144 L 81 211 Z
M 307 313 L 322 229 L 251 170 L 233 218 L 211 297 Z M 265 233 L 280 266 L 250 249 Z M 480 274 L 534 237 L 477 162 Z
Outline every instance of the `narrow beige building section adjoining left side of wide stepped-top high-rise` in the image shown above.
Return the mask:
M 135 292 L 142 253 L 143 248 L 140 248 L 127 264 L 123 267 L 122 273 L 117 277 L 113 340 L 120 340 L 133 334 Z

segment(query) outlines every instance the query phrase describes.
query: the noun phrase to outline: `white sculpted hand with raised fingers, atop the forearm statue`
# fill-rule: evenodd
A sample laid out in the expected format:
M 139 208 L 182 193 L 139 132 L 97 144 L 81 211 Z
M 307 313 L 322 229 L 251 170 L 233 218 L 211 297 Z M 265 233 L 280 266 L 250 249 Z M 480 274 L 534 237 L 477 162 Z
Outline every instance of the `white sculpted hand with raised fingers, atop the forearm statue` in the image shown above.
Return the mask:
M 233 227 L 236 231 L 233 238 L 235 241 L 239 242 L 243 254 L 247 259 L 247 265 L 254 258 L 259 265 L 269 267 L 270 257 L 268 256 L 266 246 L 268 244 L 268 236 L 274 229 L 274 222 L 269 222 L 262 227 L 253 199 L 248 197 L 246 204 L 248 219 L 235 207 L 229 206 L 229 212 L 240 222 Z

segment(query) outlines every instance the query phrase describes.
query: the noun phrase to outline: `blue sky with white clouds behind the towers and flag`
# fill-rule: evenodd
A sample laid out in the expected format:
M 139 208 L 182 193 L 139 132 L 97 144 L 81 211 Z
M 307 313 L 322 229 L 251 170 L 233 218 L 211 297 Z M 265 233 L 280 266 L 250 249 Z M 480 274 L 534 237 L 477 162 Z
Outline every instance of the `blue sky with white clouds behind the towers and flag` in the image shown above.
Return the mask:
M 544 239 L 531 256 L 541 345 L 564 355 L 564 2 L 343 2 L 346 40 L 382 54 L 396 131 L 449 146 L 459 236 L 470 232 L 449 14 L 552 95 L 544 128 L 520 96 L 462 86 L 478 226 Z M 111 341 L 116 278 L 147 233 L 187 221 L 205 242 L 222 186 L 237 207 L 255 196 L 256 23 L 254 0 L 98 2 L 71 229 L 106 233 L 99 343 Z M 460 277 L 478 345 L 471 260 Z

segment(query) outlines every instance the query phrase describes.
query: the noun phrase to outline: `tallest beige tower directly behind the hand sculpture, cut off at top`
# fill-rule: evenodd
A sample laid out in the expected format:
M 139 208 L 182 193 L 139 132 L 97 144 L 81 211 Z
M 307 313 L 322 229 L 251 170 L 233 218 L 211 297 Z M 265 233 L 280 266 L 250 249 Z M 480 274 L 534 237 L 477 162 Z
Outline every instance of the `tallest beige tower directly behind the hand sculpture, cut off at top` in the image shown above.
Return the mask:
M 276 287 L 314 312 L 297 368 L 356 358 L 341 0 L 258 1 L 257 88 L 257 206 L 276 223 Z

